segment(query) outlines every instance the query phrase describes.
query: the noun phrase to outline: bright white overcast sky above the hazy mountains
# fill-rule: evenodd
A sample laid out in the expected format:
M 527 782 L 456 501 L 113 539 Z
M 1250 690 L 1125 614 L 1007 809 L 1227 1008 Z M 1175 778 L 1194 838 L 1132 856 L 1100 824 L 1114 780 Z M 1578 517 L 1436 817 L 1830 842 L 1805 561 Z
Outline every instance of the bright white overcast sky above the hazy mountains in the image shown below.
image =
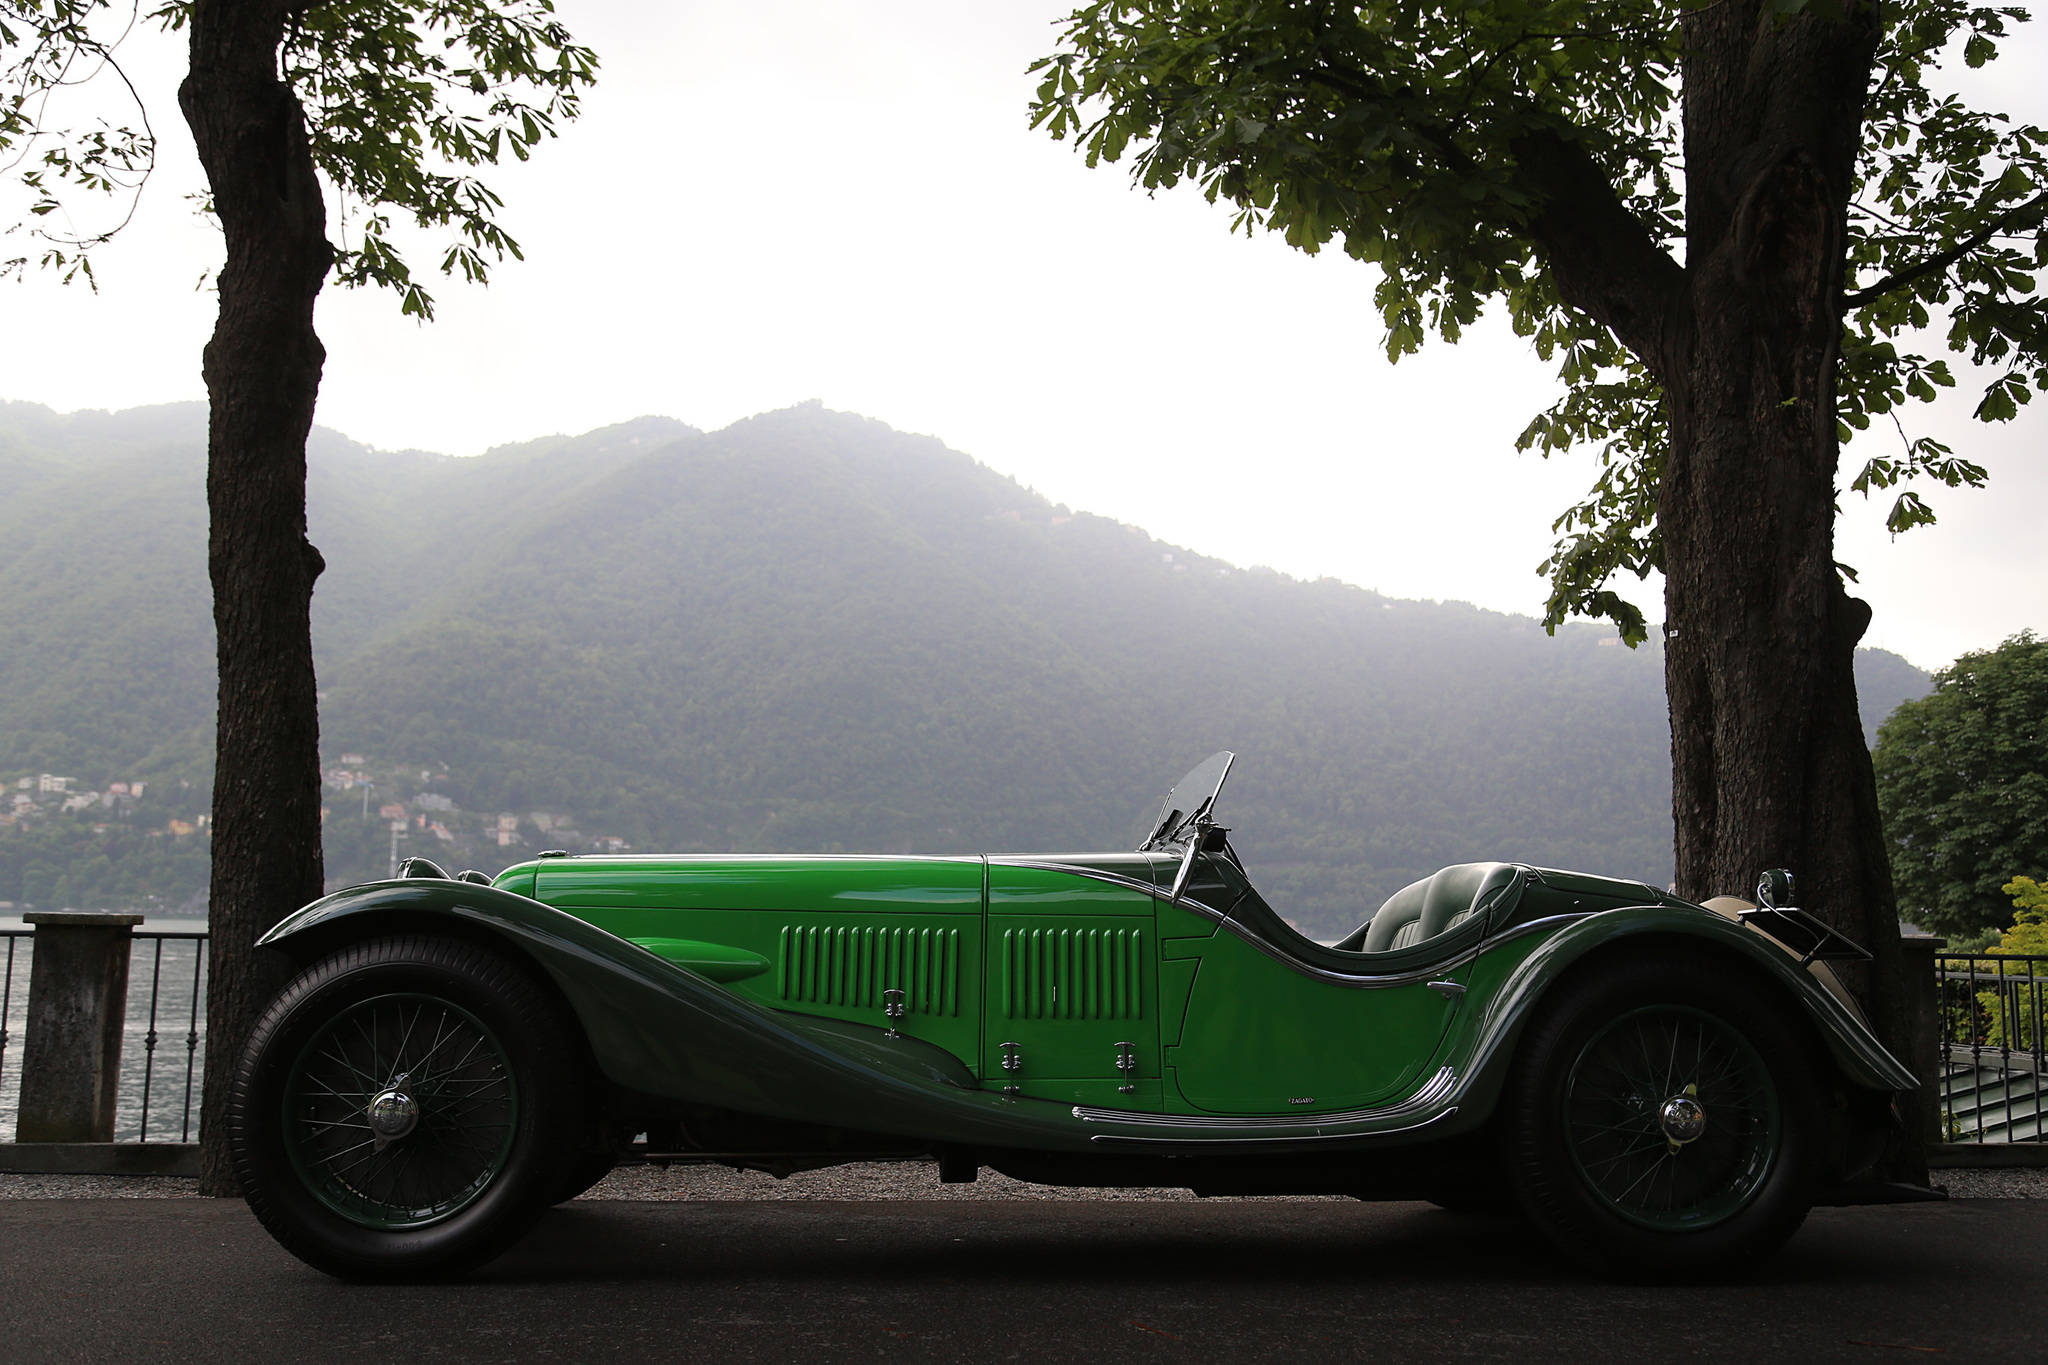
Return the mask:
M 328 291 L 319 422 L 375 446 L 475 454 L 639 413 L 719 428 L 805 399 L 946 440 L 1055 501 L 1241 565 L 1536 614 L 1550 518 L 1591 479 L 1513 436 L 1552 379 L 1497 319 L 1391 366 L 1374 272 L 1227 231 L 1194 192 L 1147 199 L 1026 127 L 1042 0 L 561 0 L 602 78 L 588 115 L 498 172 L 526 248 L 440 319 Z M 100 291 L 0 293 L 0 397 L 131 407 L 203 397 L 219 254 L 176 113 L 182 43 L 131 41 L 164 139 Z M 1970 92 L 2048 123 L 2042 33 Z M 2030 80 L 2034 78 L 2034 80 Z M 330 213 L 332 213 L 330 205 Z M 14 254 L 14 252 L 8 252 Z M 416 250 L 422 266 L 434 241 Z M 2048 630 L 2048 403 L 1909 413 L 1989 465 L 1890 542 L 1845 503 L 1866 643 L 1939 667 Z M 1866 434 L 1845 465 L 1896 436 Z M 1657 587 L 1632 585 L 1651 620 Z

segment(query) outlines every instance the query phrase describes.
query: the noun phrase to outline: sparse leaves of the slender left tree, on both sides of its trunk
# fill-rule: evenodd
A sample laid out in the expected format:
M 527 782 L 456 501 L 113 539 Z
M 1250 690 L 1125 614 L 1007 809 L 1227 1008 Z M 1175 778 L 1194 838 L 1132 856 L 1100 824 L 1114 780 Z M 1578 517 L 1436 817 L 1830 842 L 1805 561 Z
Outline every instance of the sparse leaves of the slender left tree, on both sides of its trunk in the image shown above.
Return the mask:
M 121 20 L 115 0 L 0 0 L 0 158 L 31 192 L 41 264 L 92 278 L 92 248 L 133 215 L 133 196 L 156 166 L 147 111 L 137 127 L 63 127 L 51 102 L 111 70 L 139 20 L 164 31 L 190 23 L 190 0 Z M 403 313 L 428 319 L 434 299 L 393 239 L 393 215 L 446 233 L 442 274 L 489 278 L 494 262 L 520 256 L 504 229 L 504 201 L 473 172 L 504 156 L 526 160 L 580 113 L 598 57 L 555 18 L 553 0 L 326 0 L 299 6 L 279 53 L 281 74 L 305 108 L 313 164 L 340 199 L 342 241 L 334 278 L 399 295 Z M 133 92 L 133 88 L 129 88 Z M 66 190 L 129 194 L 129 215 L 109 229 L 72 231 Z M 12 225 L 8 231 L 18 229 Z M 350 227 L 354 227 L 350 239 Z M 18 274 L 27 256 L 0 262 Z

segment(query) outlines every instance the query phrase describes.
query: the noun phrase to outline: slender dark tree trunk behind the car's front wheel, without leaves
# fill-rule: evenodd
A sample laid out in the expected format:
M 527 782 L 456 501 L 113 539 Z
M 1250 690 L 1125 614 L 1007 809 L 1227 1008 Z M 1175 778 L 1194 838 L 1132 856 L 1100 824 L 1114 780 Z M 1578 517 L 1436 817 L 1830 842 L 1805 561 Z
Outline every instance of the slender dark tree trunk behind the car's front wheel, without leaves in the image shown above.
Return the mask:
M 219 659 L 213 776 L 213 935 L 201 1193 L 233 1195 L 227 1089 L 276 988 L 256 939 L 322 890 L 319 710 L 305 536 L 305 436 L 326 352 L 313 299 L 334 260 L 305 137 L 279 80 L 289 6 L 197 0 L 178 104 L 227 237 L 221 311 L 205 350 L 207 571 Z

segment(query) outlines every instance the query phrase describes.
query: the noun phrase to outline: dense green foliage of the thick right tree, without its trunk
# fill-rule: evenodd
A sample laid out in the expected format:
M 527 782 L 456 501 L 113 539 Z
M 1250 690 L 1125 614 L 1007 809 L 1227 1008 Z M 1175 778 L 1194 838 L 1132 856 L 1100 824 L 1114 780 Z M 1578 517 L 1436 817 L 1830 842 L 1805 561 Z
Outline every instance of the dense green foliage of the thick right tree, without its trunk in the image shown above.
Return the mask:
M 1808 6 L 1772 8 L 1765 23 Z M 2023 10 L 1913 0 L 1888 16 L 1864 108 L 1835 389 L 1841 438 L 1878 420 L 1898 430 L 1901 444 L 1847 485 L 1894 491 L 1898 532 L 1933 520 L 1911 483 L 1985 481 L 1898 426 L 1907 401 L 1956 383 L 1944 358 L 1913 348 L 1937 317 L 1946 350 L 1991 370 L 1978 417 L 2009 420 L 2030 389 L 2048 389 L 2048 133 L 1933 84 L 1950 59 L 1991 61 Z M 1032 119 L 1077 139 L 1092 166 L 1130 156 L 1147 190 L 1196 182 L 1235 205 L 1247 233 L 1272 229 L 1311 254 L 1337 241 L 1378 266 L 1389 358 L 1432 332 L 1456 342 L 1499 299 L 1565 383 L 1520 446 L 1599 452 L 1540 567 L 1548 624 L 1608 616 L 1636 643 L 1642 616 L 1610 583 L 1663 569 L 1663 383 L 1608 323 L 1563 303 L 1532 233 L 1556 192 L 1532 168 L 1559 147 L 1583 153 L 1585 201 L 1626 215 L 1671 262 L 1688 229 L 1681 20 L 1651 0 L 1100 0 L 1032 68 Z

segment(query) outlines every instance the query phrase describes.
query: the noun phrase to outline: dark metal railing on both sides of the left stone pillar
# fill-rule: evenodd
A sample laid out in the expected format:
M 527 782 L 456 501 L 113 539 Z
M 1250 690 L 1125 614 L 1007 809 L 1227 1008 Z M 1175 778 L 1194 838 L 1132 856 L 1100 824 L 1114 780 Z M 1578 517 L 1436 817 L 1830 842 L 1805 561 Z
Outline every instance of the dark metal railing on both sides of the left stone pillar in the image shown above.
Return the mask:
M 14 1140 L 35 929 L 0 929 L 0 1142 Z M 207 1070 L 207 935 L 135 929 L 115 1142 L 195 1142 Z

